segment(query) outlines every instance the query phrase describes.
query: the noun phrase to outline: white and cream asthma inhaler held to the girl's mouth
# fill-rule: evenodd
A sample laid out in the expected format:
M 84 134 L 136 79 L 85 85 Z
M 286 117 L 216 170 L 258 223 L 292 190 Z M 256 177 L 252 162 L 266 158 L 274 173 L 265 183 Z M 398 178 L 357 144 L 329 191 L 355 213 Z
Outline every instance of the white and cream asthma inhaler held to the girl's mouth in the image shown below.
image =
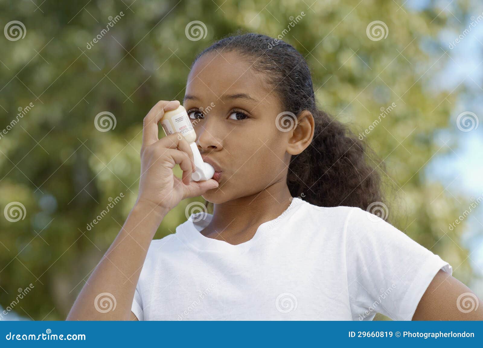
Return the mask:
M 166 135 L 180 132 L 191 147 L 193 159 L 195 160 L 195 171 L 191 175 L 193 181 L 206 181 L 213 178 L 213 167 L 203 162 L 198 146 L 196 145 L 196 133 L 185 108 L 180 105 L 178 109 L 165 111 L 163 118 L 159 121 Z

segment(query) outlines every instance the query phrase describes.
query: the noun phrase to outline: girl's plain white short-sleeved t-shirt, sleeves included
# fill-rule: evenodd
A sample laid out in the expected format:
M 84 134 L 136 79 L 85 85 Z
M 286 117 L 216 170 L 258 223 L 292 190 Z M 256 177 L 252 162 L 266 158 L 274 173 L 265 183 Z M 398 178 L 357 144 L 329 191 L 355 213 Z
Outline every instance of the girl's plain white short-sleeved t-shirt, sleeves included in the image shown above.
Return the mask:
M 452 267 L 365 210 L 294 197 L 247 242 L 203 236 L 192 214 L 153 240 L 136 287 L 139 320 L 411 320 L 436 273 Z

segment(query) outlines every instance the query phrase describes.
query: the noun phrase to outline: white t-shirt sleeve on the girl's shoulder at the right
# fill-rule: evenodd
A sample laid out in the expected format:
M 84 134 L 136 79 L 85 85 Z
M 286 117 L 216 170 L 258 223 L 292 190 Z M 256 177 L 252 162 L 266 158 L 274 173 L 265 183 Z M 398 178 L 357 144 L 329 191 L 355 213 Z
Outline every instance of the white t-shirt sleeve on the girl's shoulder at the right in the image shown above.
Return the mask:
M 393 320 L 411 320 L 438 271 L 453 273 L 438 255 L 365 210 L 351 209 L 345 224 L 353 320 L 372 320 L 376 312 Z

